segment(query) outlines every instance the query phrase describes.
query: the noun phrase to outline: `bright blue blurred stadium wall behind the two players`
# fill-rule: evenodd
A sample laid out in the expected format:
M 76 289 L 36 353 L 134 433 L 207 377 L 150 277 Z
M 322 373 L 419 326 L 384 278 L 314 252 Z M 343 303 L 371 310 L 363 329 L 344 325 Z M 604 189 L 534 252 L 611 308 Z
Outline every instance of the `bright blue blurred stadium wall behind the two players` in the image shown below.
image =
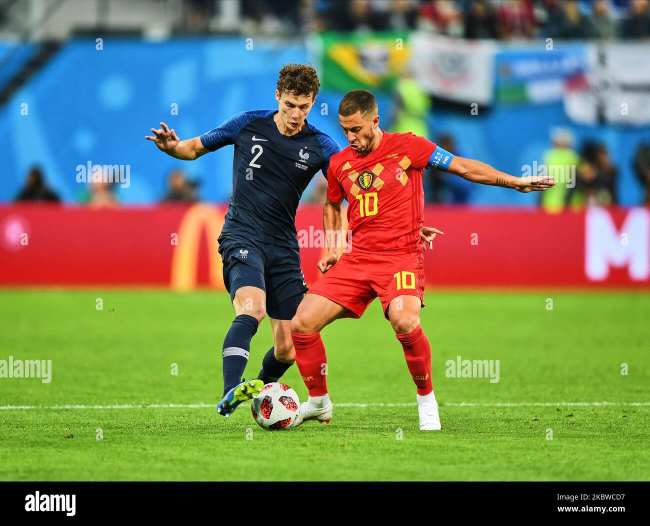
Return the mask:
M 10 44 L 0 46 L 0 56 Z M 110 52 L 107 50 L 110 49 Z M 25 45 L 29 55 L 29 45 Z M 20 59 L 20 55 L 18 55 Z M 195 137 L 239 111 L 276 107 L 277 73 L 289 62 L 315 62 L 303 41 L 256 42 L 247 51 L 242 38 L 181 38 L 164 42 L 105 38 L 103 50 L 94 39 L 68 40 L 59 53 L 0 108 L 4 144 L 0 154 L 0 201 L 14 198 L 34 164 L 42 166 L 49 185 L 67 202 L 79 193 L 78 164 L 129 164 L 131 187 L 120 192 L 124 204 L 160 200 L 166 178 L 182 164 L 191 178 L 201 180 L 202 200 L 224 202 L 231 191 L 230 148 L 182 163 L 162 155 L 144 140 L 161 121 L 181 138 Z M 10 64 L 8 65 L 10 67 Z M 341 93 L 321 92 L 309 120 L 344 143 L 337 123 Z M 391 99 L 379 98 L 384 127 Z M 29 118 L 21 114 L 27 103 Z M 178 115 L 171 114 L 172 103 Z M 328 104 L 328 114 L 320 105 Z M 494 107 L 478 118 L 435 108 L 430 114 L 436 133 L 456 137 L 458 150 L 512 174 L 541 158 L 549 148 L 549 129 L 570 125 L 579 141 L 597 138 L 607 144 L 619 168 L 620 205 L 636 205 L 642 191 L 632 161 L 647 128 L 577 126 L 562 103 Z M 515 133 L 513 133 L 513 131 Z M 477 186 L 471 204 L 530 206 L 514 192 Z

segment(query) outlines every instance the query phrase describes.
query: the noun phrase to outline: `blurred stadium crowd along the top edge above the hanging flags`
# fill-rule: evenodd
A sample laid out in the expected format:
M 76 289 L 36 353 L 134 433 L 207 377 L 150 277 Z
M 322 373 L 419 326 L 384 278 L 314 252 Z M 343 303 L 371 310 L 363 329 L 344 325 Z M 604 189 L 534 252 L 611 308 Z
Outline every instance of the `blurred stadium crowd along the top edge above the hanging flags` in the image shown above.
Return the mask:
M 242 0 L 241 5 L 240 31 L 252 34 L 424 29 L 469 39 L 650 38 L 648 0 Z M 206 18 L 196 18 L 201 20 Z

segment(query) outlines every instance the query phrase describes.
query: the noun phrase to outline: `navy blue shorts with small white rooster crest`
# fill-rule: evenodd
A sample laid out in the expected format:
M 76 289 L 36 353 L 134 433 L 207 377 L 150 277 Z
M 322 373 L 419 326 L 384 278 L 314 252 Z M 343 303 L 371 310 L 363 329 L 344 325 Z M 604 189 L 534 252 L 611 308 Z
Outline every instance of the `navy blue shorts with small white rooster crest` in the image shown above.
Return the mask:
M 231 300 L 241 287 L 257 287 L 266 293 L 266 312 L 270 317 L 294 317 L 307 291 L 299 250 L 226 236 L 219 239 L 219 254 Z

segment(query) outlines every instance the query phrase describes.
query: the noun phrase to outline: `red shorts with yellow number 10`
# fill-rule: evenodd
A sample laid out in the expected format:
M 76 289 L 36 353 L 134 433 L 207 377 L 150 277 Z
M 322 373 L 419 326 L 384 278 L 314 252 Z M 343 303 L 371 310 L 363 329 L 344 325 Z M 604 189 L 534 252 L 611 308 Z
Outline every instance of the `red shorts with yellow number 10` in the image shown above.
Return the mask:
M 352 311 L 344 318 L 361 317 L 377 296 L 386 319 L 388 305 L 397 296 L 417 296 L 424 307 L 424 254 L 422 250 L 404 254 L 348 252 L 307 294 L 324 296 Z

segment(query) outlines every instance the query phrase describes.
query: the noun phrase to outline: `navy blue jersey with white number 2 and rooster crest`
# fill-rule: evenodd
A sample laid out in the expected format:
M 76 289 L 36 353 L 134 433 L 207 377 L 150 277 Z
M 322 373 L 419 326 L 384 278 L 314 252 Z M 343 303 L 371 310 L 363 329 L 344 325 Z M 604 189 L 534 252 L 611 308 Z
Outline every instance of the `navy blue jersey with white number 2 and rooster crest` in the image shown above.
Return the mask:
M 210 151 L 235 145 L 233 196 L 220 239 L 233 235 L 298 248 L 302 192 L 318 170 L 327 178 L 330 157 L 341 147 L 308 122 L 291 137 L 281 134 L 277 112 L 244 111 L 200 137 Z

